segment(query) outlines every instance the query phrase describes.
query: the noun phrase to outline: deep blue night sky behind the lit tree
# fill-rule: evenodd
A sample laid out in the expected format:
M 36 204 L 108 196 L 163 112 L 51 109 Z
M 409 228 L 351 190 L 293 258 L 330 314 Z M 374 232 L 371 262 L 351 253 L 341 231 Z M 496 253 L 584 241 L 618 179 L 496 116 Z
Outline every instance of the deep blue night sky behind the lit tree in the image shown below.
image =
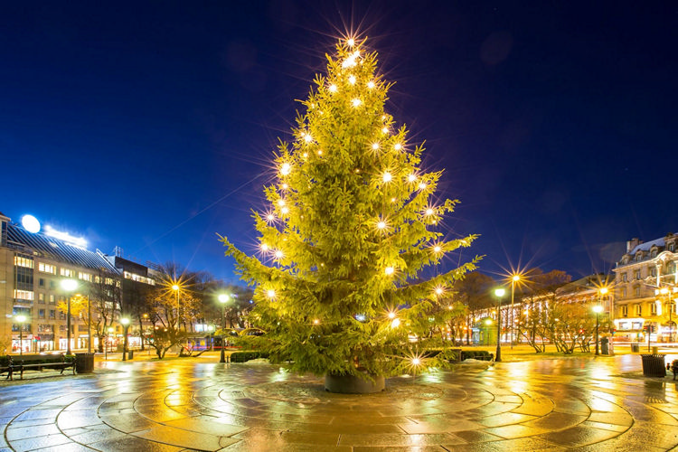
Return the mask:
M 13 221 L 234 280 L 215 233 L 253 250 L 271 151 L 353 30 L 447 170 L 448 237 L 481 234 L 462 259 L 579 277 L 678 231 L 670 2 L 98 3 L 0 6 Z

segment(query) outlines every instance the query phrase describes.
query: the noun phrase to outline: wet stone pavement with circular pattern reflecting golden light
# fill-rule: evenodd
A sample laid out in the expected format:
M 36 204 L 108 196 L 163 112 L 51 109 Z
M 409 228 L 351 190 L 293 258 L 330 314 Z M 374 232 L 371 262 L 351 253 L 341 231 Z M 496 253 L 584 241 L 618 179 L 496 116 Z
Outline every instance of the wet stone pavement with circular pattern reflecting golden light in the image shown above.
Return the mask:
M 678 450 L 678 381 L 638 355 L 463 363 L 359 396 L 216 361 L 3 383 L 0 450 Z

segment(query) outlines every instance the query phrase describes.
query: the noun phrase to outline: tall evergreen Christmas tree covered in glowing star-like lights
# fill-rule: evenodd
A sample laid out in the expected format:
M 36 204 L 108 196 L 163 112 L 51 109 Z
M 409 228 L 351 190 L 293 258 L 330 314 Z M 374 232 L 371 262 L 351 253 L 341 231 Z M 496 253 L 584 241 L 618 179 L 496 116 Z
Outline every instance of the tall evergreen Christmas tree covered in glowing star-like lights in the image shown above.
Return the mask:
M 442 171 L 421 168 L 423 146 L 384 111 L 391 84 L 377 72 L 377 54 L 348 39 L 327 61 L 301 102 L 294 139 L 275 153 L 270 208 L 254 212 L 258 256 L 221 240 L 256 286 L 250 323 L 266 332 L 255 340 L 272 362 L 317 375 L 388 376 L 440 345 L 431 313 L 477 258 L 421 275 L 475 236 L 444 240 L 438 231 L 457 202 L 436 201 Z

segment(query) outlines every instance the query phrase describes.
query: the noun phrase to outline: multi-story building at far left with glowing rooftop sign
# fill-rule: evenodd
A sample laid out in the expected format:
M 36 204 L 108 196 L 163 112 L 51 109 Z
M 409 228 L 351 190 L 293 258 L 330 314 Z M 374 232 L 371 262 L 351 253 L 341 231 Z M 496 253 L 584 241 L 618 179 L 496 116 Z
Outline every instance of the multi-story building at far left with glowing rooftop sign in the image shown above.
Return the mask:
M 82 241 L 68 234 L 32 232 L 2 213 L 0 223 L 0 354 L 66 350 L 68 321 L 60 307 L 70 297 L 80 293 L 89 300 L 98 290 L 112 293 L 113 287 L 118 287 L 120 301 L 111 303 L 119 305 L 125 302 L 129 283 L 155 283 L 148 268 L 87 250 Z M 65 289 L 61 282 L 66 279 L 74 281 L 76 288 Z M 111 307 L 114 315 L 119 312 L 120 306 Z M 93 312 L 92 323 L 96 317 Z M 71 319 L 71 349 L 86 348 L 90 335 L 87 322 L 77 315 Z

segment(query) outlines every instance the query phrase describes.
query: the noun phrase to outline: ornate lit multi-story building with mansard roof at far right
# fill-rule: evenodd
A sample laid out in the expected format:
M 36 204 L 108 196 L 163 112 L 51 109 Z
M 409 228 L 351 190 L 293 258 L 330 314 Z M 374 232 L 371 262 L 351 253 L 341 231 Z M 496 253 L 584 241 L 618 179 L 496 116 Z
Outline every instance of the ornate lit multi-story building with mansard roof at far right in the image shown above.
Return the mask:
M 626 254 L 615 273 L 615 326 L 617 336 L 652 342 L 673 342 L 678 298 L 678 235 L 648 242 L 626 242 Z

